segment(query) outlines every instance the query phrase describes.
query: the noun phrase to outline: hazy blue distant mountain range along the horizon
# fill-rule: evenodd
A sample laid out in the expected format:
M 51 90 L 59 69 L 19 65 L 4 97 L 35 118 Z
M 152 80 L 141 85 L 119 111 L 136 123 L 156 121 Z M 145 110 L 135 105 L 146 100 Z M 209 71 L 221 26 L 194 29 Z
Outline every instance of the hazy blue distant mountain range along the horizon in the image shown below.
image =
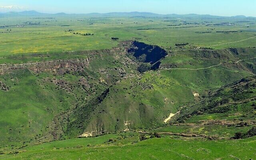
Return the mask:
M 89 13 L 89 14 L 66 14 L 66 13 L 40 13 L 35 10 L 22 11 L 22 12 L 6 12 L 0 14 L 13 14 L 13 15 L 85 15 L 85 16 L 115 16 L 115 17 L 174 17 L 174 18 L 227 18 L 228 16 L 212 16 L 210 14 L 155 14 L 151 12 L 110 12 L 110 13 Z M 243 15 L 231 16 L 232 18 L 255 18 L 246 17 Z

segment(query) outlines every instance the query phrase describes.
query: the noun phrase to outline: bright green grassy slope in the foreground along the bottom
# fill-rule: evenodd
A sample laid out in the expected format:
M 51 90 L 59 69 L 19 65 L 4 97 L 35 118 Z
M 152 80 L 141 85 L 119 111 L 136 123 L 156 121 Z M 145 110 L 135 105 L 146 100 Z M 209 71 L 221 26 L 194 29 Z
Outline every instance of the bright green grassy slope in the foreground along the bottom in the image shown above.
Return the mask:
M 115 141 L 108 142 L 112 138 Z M 249 160 L 256 158 L 255 138 L 246 140 L 178 140 L 170 137 L 139 141 L 138 137 L 106 135 L 70 139 L 23 148 L 3 160 L 77 160 L 77 159 L 157 159 L 165 160 Z

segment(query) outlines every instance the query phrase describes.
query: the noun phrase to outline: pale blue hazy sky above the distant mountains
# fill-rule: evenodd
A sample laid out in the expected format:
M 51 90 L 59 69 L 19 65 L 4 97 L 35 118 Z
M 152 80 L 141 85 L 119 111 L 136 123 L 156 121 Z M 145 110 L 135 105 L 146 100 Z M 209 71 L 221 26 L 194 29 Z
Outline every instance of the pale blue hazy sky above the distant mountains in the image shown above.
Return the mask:
M 0 0 L 0 12 L 20 10 L 36 10 L 44 13 L 138 11 L 256 17 L 256 0 Z

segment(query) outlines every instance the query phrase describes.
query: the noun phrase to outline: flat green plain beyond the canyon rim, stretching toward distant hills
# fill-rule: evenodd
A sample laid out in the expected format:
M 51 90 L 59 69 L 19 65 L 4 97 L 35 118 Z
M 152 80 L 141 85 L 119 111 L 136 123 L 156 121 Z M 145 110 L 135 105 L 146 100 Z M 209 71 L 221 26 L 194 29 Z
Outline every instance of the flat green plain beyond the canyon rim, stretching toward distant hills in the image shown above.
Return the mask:
M 174 18 L 90 18 L 84 16 L 51 16 L 54 19 L 34 19 L 36 17 L 18 17 L 18 21 L 9 17 L 2 18 L 0 25 L 22 25 L 25 22 L 32 22 L 35 25 L 20 27 L 8 27 L 0 29 L 1 55 L 24 53 L 52 53 L 66 52 L 73 50 L 100 50 L 117 46 L 118 42 L 110 40 L 111 37 L 118 37 L 120 40 L 140 40 L 147 44 L 162 46 L 163 48 L 174 47 L 176 43 L 188 42 L 190 46 L 207 47 L 228 42 L 236 42 L 246 38 L 254 37 L 254 19 L 239 22 L 239 20 L 218 20 L 210 19 L 205 23 L 202 19 L 184 20 L 188 24 L 182 26 L 168 27 L 183 23 L 165 22 L 166 20 L 177 20 Z M 40 16 L 39 16 L 40 17 Z M 44 22 L 50 20 L 52 22 Z M 78 21 L 84 20 L 84 21 Z M 12 23 L 10 23 L 12 21 Z M 153 21 L 153 22 L 152 22 Z M 218 24 L 220 22 L 235 23 L 234 26 L 207 26 L 207 24 Z M 16 22 L 16 23 L 14 23 Z M 40 22 L 39 25 L 36 25 Z M 203 24 L 202 24 L 203 23 Z M 252 24 L 253 23 L 253 24 Z M 91 25 L 90 25 L 91 24 Z M 250 24 L 250 28 L 245 25 Z M 192 28 L 180 28 L 184 26 L 198 26 Z M 144 28 L 170 28 L 170 29 L 149 29 Z M 78 33 L 94 33 L 93 36 L 81 36 L 65 30 L 73 30 Z M 213 29 L 213 30 L 211 30 Z M 7 31 L 9 30 L 9 31 Z M 11 31 L 10 31 L 11 30 Z M 233 31 L 235 33 L 216 33 L 216 31 Z M 209 32 L 211 33 L 196 33 Z M 242 32 L 240 32 L 242 31 Z M 254 46 L 255 38 L 250 40 L 214 46 L 212 48 L 240 48 Z

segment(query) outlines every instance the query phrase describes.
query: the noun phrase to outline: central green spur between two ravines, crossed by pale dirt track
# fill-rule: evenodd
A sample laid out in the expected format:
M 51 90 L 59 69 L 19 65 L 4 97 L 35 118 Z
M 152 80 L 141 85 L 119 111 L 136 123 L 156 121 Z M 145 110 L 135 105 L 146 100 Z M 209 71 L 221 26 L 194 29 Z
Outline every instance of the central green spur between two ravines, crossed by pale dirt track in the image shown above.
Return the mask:
M 204 96 L 208 90 L 252 74 L 253 70 L 246 65 L 236 63 L 239 58 L 229 50 L 210 51 L 169 53 L 161 60 L 158 71 L 124 77 L 110 88 L 108 96 L 95 110 L 95 116 L 84 135 L 162 126 L 170 113 L 176 113 L 182 106 L 197 102 L 200 95 Z M 194 54 L 198 56 L 195 58 Z M 217 54 L 219 56 L 215 56 Z M 249 55 L 243 52 L 241 56 Z M 182 63 L 178 62 L 178 57 L 182 57 Z M 177 66 L 169 68 L 175 59 Z M 170 60 L 173 62 L 170 63 Z M 221 65 L 214 66 L 216 64 Z M 212 65 L 214 67 L 208 68 Z

